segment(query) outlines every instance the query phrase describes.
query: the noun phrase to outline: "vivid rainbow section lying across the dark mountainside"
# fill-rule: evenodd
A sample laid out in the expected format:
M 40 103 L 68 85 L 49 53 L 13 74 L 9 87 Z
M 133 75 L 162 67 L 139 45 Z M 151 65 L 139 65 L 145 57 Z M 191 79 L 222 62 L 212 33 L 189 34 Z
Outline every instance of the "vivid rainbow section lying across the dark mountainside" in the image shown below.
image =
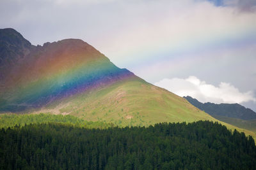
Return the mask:
M 12 68 L 2 111 L 22 111 L 134 77 L 116 67 L 102 53 L 79 39 L 64 39 L 32 46 L 24 60 Z M 3 104 L 2 104 L 3 105 Z

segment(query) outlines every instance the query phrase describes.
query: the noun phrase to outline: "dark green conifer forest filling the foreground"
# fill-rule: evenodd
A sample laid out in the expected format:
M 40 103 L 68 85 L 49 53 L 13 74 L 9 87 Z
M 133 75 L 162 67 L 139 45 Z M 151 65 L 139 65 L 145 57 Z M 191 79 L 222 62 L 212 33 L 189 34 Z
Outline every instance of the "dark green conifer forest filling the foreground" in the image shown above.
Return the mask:
M 1 129 L 0 169 L 256 169 L 251 136 L 213 122 Z

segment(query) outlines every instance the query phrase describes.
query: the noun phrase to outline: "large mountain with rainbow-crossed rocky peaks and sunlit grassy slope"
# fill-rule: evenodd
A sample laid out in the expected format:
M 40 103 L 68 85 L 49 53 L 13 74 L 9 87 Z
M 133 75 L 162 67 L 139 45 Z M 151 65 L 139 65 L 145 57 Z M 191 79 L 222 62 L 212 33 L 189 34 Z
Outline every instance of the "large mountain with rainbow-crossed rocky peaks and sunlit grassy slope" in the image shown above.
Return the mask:
M 122 127 L 218 121 L 186 99 L 116 67 L 81 39 L 35 46 L 14 29 L 0 29 L 0 35 L 1 113 L 73 115 Z

